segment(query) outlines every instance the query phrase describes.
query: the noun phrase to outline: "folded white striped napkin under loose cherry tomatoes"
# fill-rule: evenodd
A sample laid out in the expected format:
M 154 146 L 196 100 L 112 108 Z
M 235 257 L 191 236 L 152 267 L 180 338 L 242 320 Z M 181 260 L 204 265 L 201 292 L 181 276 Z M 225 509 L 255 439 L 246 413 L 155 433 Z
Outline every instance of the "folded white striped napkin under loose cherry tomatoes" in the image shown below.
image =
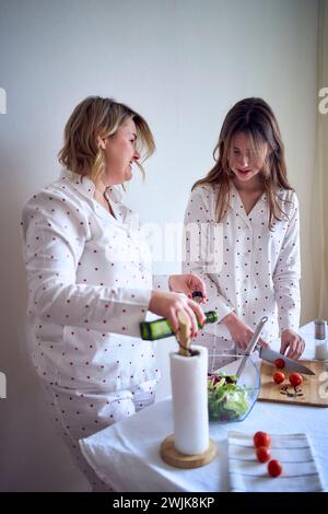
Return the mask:
M 278 459 L 283 471 L 271 477 L 268 463 L 256 457 L 254 434 L 230 432 L 230 490 L 235 492 L 324 491 L 324 486 L 306 434 L 270 434 L 271 459 Z

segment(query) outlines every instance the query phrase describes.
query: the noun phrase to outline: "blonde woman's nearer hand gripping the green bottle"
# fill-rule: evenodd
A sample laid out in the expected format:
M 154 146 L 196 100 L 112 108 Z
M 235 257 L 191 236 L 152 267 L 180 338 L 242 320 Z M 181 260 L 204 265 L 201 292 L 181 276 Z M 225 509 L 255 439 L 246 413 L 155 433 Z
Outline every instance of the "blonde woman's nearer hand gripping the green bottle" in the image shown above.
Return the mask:
M 152 291 L 149 309 L 159 316 L 165 317 L 171 323 L 175 334 L 177 334 L 179 329 L 177 313 L 185 311 L 191 323 L 190 337 L 196 337 L 198 334 L 197 318 L 200 325 L 203 325 L 206 322 L 204 314 L 200 306 L 181 293 Z

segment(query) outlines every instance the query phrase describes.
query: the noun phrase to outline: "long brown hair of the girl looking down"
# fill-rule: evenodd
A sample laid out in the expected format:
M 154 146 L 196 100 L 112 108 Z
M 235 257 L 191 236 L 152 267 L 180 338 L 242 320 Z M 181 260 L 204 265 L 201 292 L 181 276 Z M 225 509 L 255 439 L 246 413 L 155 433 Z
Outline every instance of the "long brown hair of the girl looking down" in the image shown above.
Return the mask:
M 197 180 L 192 189 L 203 185 L 219 185 L 216 199 L 216 221 L 221 222 L 230 207 L 232 172 L 229 155 L 233 138 L 244 132 L 249 137 L 254 163 L 261 163 L 263 190 L 269 206 L 269 227 L 274 220 L 284 215 L 278 188 L 293 190 L 286 178 L 284 147 L 276 116 L 271 107 L 261 98 L 245 98 L 237 102 L 227 113 L 213 151 L 215 165 L 204 178 Z M 265 162 L 261 157 L 263 143 L 268 144 Z

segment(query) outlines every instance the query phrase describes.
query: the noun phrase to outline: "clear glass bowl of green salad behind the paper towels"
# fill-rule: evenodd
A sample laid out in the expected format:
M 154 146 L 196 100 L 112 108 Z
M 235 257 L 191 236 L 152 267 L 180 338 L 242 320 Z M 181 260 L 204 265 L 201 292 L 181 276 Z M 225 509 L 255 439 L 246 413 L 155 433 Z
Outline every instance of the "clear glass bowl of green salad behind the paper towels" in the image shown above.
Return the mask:
M 209 355 L 208 405 L 210 421 L 243 421 L 251 411 L 260 390 L 260 373 L 248 357 L 243 372 L 236 372 L 244 355 Z

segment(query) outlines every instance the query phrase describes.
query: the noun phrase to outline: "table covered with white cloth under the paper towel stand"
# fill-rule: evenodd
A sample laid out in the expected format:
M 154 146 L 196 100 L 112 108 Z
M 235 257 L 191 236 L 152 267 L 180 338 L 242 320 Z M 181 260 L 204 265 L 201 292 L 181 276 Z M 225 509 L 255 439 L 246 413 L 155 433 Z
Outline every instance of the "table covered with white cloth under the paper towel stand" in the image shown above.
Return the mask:
M 313 357 L 313 325 L 302 329 L 308 348 L 304 357 Z M 253 434 L 300 433 L 311 437 L 314 455 L 328 490 L 328 409 L 257 401 L 248 418 L 236 423 L 210 423 L 210 436 L 218 453 L 207 466 L 175 469 L 160 457 L 162 441 L 173 433 L 172 402 L 164 399 L 131 418 L 127 418 L 82 440 L 81 449 L 96 474 L 113 489 L 121 492 L 229 490 L 227 432 Z

